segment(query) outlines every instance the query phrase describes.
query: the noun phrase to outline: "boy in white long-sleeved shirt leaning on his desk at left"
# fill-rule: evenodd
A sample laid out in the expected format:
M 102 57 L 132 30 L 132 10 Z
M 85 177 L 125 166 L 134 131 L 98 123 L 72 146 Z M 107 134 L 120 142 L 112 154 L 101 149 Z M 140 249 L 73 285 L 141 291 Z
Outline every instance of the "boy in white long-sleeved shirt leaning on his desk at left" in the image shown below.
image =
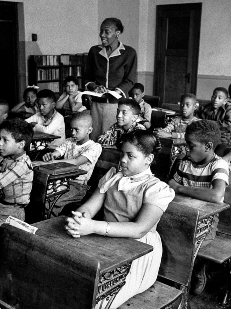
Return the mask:
M 43 132 L 61 136 L 48 143 L 49 148 L 56 148 L 65 140 L 65 124 L 63 116 L 55 107 L 55 95 L 49 89 L 40 90 L 38 93 L 38 106 L 40 112 L 25 119 L 33 126 L 35 132 Z

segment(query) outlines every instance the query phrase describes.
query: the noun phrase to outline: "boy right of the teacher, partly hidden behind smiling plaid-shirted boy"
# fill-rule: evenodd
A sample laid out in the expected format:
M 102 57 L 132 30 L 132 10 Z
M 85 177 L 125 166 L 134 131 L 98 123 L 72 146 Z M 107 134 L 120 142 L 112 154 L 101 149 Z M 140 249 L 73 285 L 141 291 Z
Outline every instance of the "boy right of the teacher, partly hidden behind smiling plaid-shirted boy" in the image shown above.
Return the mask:
M 133 88 L 129 91 L 129 96 L 132 97 L 132 99 L 136 100 L 136 102 L 140 105 L 141 111 L 139 119 L 145 119 L 146 121 L 143 123 L 143 125 L 146 127 L 146 129 L 149 129 L 151 126 L 151 114 L 152 114 L 152 108 L 151 105 L 144 102 L 144 85 L 141 83 L 134 83 Z

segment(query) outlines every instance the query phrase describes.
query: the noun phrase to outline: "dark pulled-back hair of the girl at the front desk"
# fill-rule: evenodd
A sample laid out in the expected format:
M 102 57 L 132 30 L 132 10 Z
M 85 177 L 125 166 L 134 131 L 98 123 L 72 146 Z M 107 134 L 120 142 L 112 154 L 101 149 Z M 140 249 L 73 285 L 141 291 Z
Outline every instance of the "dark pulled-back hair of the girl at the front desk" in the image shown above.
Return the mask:
M 158 154 L 161 149 L 159 139 L 156 138 L 151 131 L 147 130 L 135 130 L 130 133 L 123 134 L 121 138 L 117 140 L 116 147 L 121 149 L 122 144 L 126 142 L 134 145 L 146 157 L 149 154 Z

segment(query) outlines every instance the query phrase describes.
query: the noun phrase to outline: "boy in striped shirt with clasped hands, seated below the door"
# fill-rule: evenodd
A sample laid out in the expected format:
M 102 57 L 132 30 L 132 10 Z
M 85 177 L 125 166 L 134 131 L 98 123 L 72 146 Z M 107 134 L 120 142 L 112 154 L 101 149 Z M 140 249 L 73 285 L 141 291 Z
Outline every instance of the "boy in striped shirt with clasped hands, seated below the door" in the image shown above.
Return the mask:
M 155 129 L 155 135 L 164 138 L 184 138 L 187 125 L 198 120 L 194 117 L 196 110 L 196 96 L 192 93 L 186 93 L 180 100 L 181 116 L 173 117 L 170 123 L 164 129 Z

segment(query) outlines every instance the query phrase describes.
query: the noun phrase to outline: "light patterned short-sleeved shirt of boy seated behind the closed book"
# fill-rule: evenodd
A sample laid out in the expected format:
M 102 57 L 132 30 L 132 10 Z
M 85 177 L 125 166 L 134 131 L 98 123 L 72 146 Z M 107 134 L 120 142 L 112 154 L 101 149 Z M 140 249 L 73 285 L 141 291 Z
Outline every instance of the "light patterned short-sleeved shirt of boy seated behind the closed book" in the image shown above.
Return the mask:
M 83 155 L 89 160 L 87 163 L 79 165 L 79 168 L 85 170 L 87 174 L 78 176 L 75 180 L 78 182 L 78 180 L 90 179 L 95 163 L 101 154 L 102 147 L 98 143 L 93 142 L 93 140 L 88 140 L 82 145 L 76 145 L 76 141 L 70 137 L 62 142 L 56 150 L 61 153 L 61 156 L 64 155 L 64 159 L 76 159 Z

